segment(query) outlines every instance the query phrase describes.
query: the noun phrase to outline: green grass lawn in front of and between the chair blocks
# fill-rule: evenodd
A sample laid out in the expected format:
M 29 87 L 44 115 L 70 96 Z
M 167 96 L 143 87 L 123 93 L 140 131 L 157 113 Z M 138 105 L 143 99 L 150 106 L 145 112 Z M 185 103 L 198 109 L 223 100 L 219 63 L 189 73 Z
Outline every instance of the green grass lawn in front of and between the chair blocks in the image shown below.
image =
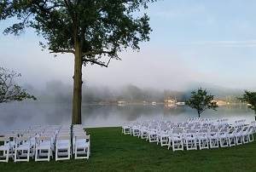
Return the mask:
M 122 135 L 121 128 L 86 129 L 89 159 L 0 163 L 1 171 L 256 171 L 256 141 L 241 146 L 177 151 Z M 256 136 L 256 135 L 254 135 Z

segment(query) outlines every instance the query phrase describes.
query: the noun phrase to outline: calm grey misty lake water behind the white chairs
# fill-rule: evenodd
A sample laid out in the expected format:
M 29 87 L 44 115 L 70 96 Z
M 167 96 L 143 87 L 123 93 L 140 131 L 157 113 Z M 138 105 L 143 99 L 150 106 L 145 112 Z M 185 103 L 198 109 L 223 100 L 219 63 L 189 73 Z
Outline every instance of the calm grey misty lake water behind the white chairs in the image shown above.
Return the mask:
M 70 104 L 0 104 L 0 135 L 29 125 L 69 124 L 71 113 Z M 196 111 L 189 106 L 82 106 L 83 125 L 88 128 L 121 126 L 126 121 L 136 120 L 181 122 L 196 117 Z M 229 118 L 229 123 L 246 119 L 250 123 L 254 115 L 247 106 L 220 106 L 218 111 L 203 112 L 201 118 Z

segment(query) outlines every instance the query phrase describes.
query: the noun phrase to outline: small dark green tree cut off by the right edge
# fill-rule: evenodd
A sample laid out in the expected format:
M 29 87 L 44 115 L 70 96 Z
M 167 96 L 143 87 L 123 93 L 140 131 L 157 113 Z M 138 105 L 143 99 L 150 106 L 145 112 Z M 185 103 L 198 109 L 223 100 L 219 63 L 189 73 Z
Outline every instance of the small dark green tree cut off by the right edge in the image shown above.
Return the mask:
M 244 94 L 241 98 L 237 98 L 238 100 L 247 102 L 248 108 L 252 109 L 255 114 L 255 121 L 256 121 L 256 92 L 250 92 L 247 90 L 244 90 Z

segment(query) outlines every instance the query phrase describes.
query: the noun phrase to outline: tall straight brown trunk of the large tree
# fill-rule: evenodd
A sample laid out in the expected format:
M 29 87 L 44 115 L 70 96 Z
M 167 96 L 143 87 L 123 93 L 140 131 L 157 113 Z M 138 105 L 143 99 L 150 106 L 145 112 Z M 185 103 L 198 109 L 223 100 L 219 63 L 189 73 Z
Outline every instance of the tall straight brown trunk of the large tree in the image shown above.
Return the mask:
M 74 75 L 73 75 L 73 114 L 72 124 L 81 124 L 82 106 L 82 51 L 79 44 L 75 46 Z

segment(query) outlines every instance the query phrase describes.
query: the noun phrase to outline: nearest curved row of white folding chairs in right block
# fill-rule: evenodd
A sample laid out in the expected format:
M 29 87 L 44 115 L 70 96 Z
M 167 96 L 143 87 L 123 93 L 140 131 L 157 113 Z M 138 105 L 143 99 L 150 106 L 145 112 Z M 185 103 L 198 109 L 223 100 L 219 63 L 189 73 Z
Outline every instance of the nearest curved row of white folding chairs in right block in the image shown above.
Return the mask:
M 228 129 L 201 129 L 199 131 L 189 129 L 186 132 L 182 129 L 174 129 L 169 131 L 172 134 L 169 136 L 168 149 L 172 146 L 173 151 L 183 150 L 183 145 L 186 145 L 187 150 L 196 150 L 196 144 L 199 145 L 200 149 L 236 146 L 242 142 L 246 143 L 246 140 L 250 140 L 245 130 L 243 131 L 244 134 L 242 134 L 242 129 L 238 129 L 237 132 L 236 129 L 230 129 L 230 131 Z

